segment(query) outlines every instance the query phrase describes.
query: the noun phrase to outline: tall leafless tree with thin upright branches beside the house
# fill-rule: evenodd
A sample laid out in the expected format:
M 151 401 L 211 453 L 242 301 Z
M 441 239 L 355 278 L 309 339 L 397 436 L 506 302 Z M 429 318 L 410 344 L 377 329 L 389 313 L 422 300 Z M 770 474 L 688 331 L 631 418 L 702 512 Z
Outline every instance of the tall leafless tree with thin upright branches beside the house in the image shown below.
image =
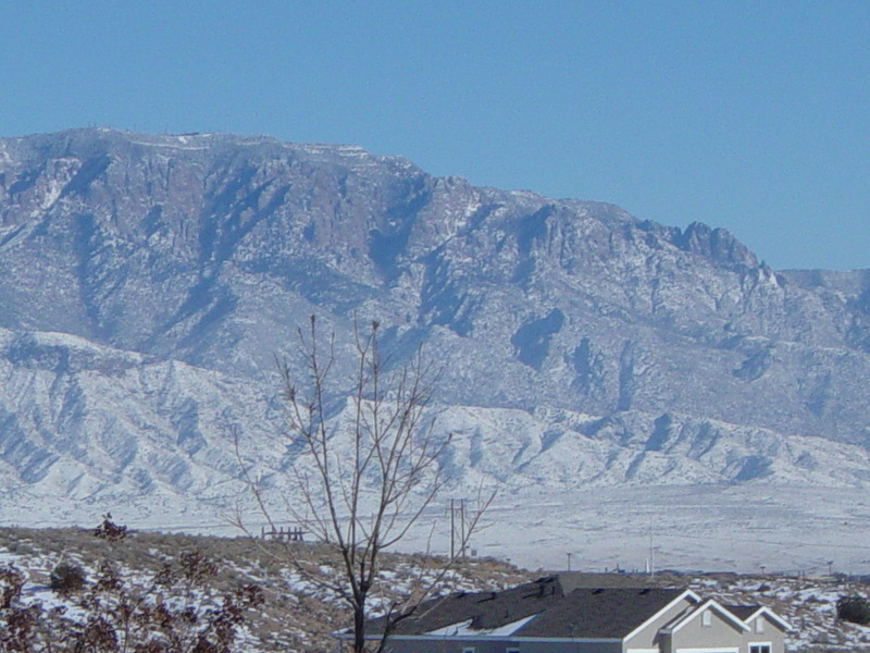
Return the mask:
M 293 546 L 285 550 L 300 575 L 348 605 L 353 651 L 380 653 L 399 621 L 414 614 L 456 562 L 456 556 L 444 558 L 413 595 L 381 606 L 385 614 L 380 615 L 377 637 L 369 638 L 375 642 L 369 644 L 366 620 L 372 616 L 382 552 L 406 537 L 444 484 L 438 458 L 450 436 L 438 436 L 434 422 L 424 419 L 438 374 L 420 350 L 410 364 L 388 371 L 378 348 L 378 323 L 373 321 L 364 331 L 355 325 L 352 392 L 345 410 L 349 417 L 344 422 L 330 420 L 334 404 L 327 389 L 338 367 L 335 334 L 321 336 L 314 316 L 308 330 L 300 328 L 298 333 L 304 373 L 297 378 L 286 360 L 278 361 L 287 436 L 299 452 L 290 473 L 300 504 L 288 501 L 286 505 L 294 521 L 337 555 L 340 570 L 332 578 L 314 574 Z M 245 473 L 275 530 L 262 489 Z M 484 497 L 478 492 L 477 508 L 469 514 L 459 552 L 493 498 L 494 493 Z

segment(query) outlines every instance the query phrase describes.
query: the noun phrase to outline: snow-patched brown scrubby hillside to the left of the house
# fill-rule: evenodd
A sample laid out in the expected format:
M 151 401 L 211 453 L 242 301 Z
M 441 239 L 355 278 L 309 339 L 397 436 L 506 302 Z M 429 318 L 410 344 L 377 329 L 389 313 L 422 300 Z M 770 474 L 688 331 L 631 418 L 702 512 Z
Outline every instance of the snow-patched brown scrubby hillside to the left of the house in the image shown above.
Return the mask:
M 215 563 L 214 574 L 192 588 L 185 582 L 156 584 L 156 575 L 166 563 L 177 567 L 184 552 L 199 550 Z M 89 582 L 99 578 L 102 560 L 111 560 L 130 596 L 146 603 L 161 596 L 179 608 L 201 614 L 220 607 L 223 596 L 239 586 L 256 583 L 264 599 L 246 623 L 237 640 L 246 653 L 332 650 L 331 632 L 349 625 L 345 602 L 318 580 L 335 580 L 340 566 L 335 552 L 323 546 L 299 546 L 293 556 L 275 542 L 254 543 L 247 538 L 191 538 L 160 533 L 133 533 L 123 542 L 108 543 L 82 529 L 0 528 L 0 568 L 14 566 L 25 578 L 22 603 L 44 608 L 63 607 L 65 615 L 83 619 L 82 596 L 62 597 L 48 587 L 51 570 L 61 562 L 78 565 Z M 526 575 L 502 564 L 464 560 L 446 572 L 432 559 L 385 554 L 380 578 L 370 596 L 370 614 L 393 606 L 412 593 L 431 588 L 435 595 L 453 591 L 497 590 L 526 579 Z M 87 590 L 86 590 L 87 593 Z M 107 596 L 110 604 L 113 597 Z M 4 613 L 0 613 L 0 628 Z M 54 624 L 52 621 L 52 624 Z M 60 627 L 60 624 L 55 624 Z

